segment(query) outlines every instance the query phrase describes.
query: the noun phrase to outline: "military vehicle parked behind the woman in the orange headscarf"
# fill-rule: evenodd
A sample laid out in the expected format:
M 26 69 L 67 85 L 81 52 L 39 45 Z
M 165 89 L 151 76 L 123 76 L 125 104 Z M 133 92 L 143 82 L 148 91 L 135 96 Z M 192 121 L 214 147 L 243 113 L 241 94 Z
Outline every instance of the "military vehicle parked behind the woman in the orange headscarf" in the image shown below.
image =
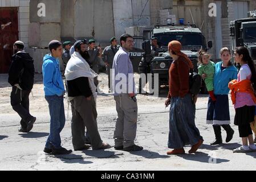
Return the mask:
M 194 72 L 198 73 L 198 51 L 200 49 L 212 48 L 212 41 L 208 42 L 206 47 L 206 40 L 199 28 L 194 24 L 172 24 L 164 26 L 155 26 L 153 28 L 152 37 L 157 38 L 159 43 L 159 56 L 153 57 L 151 61 L 152 80 L 155 73 L 159 74 L 159 84 L 152 82 L 152 88 L 161 85 L 168 85 L 168 71 L 172 64 L 172 57 L 168 52 L 168 43 L 172 40 L 178 40 L 182 44 L 182 52 L 185 53 L 194 65 Z M 208 93 L 203 82 L 201 93 Z

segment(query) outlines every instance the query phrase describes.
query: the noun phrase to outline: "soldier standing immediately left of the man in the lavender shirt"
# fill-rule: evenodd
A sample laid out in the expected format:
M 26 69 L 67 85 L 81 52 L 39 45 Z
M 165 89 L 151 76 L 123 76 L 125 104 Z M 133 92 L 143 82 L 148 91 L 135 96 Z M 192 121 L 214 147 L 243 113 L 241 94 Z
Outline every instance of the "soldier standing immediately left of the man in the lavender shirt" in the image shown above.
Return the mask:
M 119 50 L 120 46 L 117 45 L 117 40 L 115 37 L 110 39 L 110 43 L 111 45 L 106 47 L 104 49 L 104 51 L 101 54 L 101 57 L 105 63 L 106 66 L 106 71 L 108 74 L 108 92 L 111 92 L 112 90 L 110 90 L 111 86 L 110 86 L 110 81 L 111 81 L 111 74 L 110 74 L 110 70 L 113 67 L 113 59 L 116 55 L 116 52 Z

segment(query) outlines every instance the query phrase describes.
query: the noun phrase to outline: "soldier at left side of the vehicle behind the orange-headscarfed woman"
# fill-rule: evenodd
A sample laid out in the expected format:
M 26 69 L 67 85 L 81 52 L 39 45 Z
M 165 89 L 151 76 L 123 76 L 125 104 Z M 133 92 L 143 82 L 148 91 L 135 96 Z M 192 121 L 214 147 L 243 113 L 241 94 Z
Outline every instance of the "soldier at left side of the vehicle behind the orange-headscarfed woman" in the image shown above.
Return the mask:
M 144 49 L 146 49 L 145 47 L 144 47 Z M 142 89 L 145 87 L 145 84 L 147 84 L 147 82 L 148 82 L 147 74 L 151 72 L 150 63 L 151 63 L 152 57 L 158 56 L 158 55 L 159 55 L 159 45 L 157 43 L 157 38 L 152 38 L 151 39 L 151 52 L 148 52 L 147 50 L 145 50 L 143 58 L 141 59 L 140 64 L 139 64 L 139 73 L 140 74 L 144 73 L 146 75 L 146 82 L 142 82 L 141 78 L 140 78 L 139 93 L 147 93 L 147 92 L 143 91 Z

